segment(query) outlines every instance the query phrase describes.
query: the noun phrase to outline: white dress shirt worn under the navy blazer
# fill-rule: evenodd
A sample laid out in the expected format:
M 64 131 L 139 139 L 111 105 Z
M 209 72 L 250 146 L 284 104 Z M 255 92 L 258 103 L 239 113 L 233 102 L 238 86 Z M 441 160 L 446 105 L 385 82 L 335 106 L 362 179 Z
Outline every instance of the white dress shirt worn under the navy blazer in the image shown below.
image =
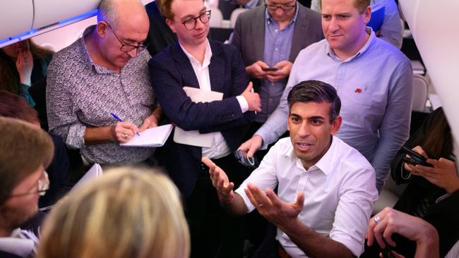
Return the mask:
M 209 65 L 210 59 L 212 58 L 212 49 L 210 49 L 208 39 L 205 40 L 205 54 L 203 63 L 196 60 L 191 54 L 189 54 L 189 52 L 186 51 L 186 49 L 181 44 L 180 47 L 190 60 L 191 66 L 193 66 L 196 78 L 198 78 L 199 88 L 201 90 L 211 91 L 212 87 L 210 85 Z M 244 97 L 237 96 L 236 99 L 239 102 L 239 106 L 241 106 L 242 113 L 249 110 L 249 104 Z M 222 133 L 215 132 L 213 135 L 214 137 L 212 147 L 203 147 L 202 155 L 207 156 L 209 159 L 219 159 L 229 155 L 230 150 Z

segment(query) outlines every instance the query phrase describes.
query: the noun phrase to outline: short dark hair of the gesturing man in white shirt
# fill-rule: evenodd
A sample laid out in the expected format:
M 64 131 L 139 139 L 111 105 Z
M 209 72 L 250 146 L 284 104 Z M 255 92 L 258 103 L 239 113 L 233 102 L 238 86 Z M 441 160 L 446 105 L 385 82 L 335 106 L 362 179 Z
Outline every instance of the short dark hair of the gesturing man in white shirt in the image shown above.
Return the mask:
M 287 103 L 289 108 L 294 102 L 328 102 L 330 103 L 330 123 L 340 114 L 341 100 L 335 88 L 320 80 L 305 80 L 292 87 Z

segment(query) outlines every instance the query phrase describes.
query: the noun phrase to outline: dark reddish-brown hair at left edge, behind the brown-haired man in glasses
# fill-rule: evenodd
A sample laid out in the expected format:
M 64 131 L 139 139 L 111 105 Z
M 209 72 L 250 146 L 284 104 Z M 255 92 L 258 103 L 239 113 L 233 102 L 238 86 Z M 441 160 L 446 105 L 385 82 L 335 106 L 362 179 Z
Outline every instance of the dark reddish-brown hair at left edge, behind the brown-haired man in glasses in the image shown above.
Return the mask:
M 38 112 L 28 104 L 27 100 L 6 90 L 0 90 L 0 116 L 40 124 Z

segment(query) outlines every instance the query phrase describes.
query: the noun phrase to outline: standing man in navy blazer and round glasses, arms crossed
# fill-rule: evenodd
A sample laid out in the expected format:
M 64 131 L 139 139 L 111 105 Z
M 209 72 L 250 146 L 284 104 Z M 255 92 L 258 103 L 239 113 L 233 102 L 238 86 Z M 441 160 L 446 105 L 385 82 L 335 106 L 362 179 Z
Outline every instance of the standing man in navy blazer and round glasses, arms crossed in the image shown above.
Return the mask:
M 150 60 L 153 89 L 165 116 L 181 130 L 195 131 L 200 139 L 184 141 L 177 137 L 176 127 L 160 156 L 185 197 L 191 256 L 242 257 L 241 224 L 225 215 L 218 204 L 201 158 L 209 156 L 221 167 L 235 168 L 232 171 L 244 169 L 233 152 L 254 111 L 261 111 L 260 98 L 247 85 L 239 51 L 207 39 L 211 13 L 202 0 L 161 0 L 157 6 L 178 41 Z M 219 97 L 198 100 L 199 94 Z M 234 176 L 238 183 L 248 175 Z M 223 228 L 222 220 L 227 221 Z

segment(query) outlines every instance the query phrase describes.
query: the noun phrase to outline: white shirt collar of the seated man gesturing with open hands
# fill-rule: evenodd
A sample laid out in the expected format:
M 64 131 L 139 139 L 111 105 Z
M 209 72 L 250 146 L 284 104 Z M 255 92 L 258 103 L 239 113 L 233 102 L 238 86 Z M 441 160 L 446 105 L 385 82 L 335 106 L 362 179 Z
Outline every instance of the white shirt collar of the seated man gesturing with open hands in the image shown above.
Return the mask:
M 311 171 L 321 171 L 322 173 L 326 174 L 326 176 L 330 175 L 330 173 L 333 171 L 333 163 L 330 163 L 330 161 L 335 160 L 335 156 L 338 152 L 338 140 L 335 136 L 332 137 L 331 145 L 328 148 L 327 152 L 317 161 L 316 164 L 311 166 L 309 169 L 305 169 L 302 161 L 298 159 L 297 155 L 295 155 L 293 151 L 293 145 L 287 149 L 285 149 L 283 155 L 288 156 L 295 164 L 297 164 L 297 167 L 304 169 L 306 172 L 311 172 Z

